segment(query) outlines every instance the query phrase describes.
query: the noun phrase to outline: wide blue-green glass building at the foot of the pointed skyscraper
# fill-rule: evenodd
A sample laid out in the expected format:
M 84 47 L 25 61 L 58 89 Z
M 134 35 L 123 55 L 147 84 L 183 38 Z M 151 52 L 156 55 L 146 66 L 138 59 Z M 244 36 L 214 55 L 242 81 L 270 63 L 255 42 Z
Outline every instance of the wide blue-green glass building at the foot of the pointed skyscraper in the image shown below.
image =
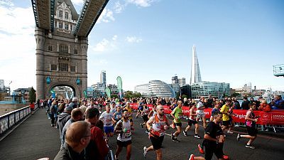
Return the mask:
M 222 98 L 230 95 L 230 84 L 225 82 L 197 82 L 191 85 L 193 99 L 200 99 L 201 96 Z

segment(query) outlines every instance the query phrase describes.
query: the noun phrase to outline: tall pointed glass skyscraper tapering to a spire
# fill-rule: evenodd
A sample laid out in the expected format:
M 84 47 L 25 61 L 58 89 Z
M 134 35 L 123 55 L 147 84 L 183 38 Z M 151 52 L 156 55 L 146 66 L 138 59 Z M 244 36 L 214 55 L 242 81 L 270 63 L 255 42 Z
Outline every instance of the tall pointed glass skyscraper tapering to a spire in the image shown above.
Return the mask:
M 192 46 L 192 64 L 191 64 L 191 77 L 190 77 L 190 85 L 202 82 L 200 75 L 200 64 L 198 63 L 196 48 Z

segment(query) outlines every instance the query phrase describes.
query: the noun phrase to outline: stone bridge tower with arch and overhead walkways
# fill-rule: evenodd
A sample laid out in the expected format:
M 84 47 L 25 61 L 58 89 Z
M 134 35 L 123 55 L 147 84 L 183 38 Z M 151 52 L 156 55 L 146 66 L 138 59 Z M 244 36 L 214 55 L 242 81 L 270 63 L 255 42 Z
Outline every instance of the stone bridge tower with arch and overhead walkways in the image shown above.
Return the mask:
M 75 97 L 87 90 L 87 37 L 109 0 L 85 0 L 80 15 L 70 0 L 31 0 L 35 16 L 36 97 L 58 85 Z

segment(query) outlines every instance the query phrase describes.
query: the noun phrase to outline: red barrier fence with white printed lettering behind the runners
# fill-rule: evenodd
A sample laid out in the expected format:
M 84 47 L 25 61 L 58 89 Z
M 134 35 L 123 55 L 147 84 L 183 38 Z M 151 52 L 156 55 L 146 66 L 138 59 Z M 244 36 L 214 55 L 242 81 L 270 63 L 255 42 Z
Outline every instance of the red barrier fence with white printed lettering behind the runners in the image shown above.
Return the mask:
M 153 105 L 147 105 L 150 110 L 153 109 Z M 138 104 L 137 103 L 131 103 L 131 107 L 133 110 L 138 110 Z M 165 114 L 170 114 L 172 110 L 170 110 L 170 107 L 167 105 L 163 105 Z M 204 109 L 205 117 L 206 119 L 209 119 L 211 117 L 211 111 L 212 108 L 206 108 Z M 190 107 L 182 106 L 182 113 L 185 116 L 188 116 L 190 113 Z M 258 122 L 256 122 L 257 127 L 260 129 L 264 129 L 265 127 L 271 127 L 275 128 L 284 128 L 284 110 L 271 110 L 271 112 L 263 112 L 263 111 L 254 111 L 256 116 L 259 116 Z M 234 116 L 232 117 L 234 122 L 244 125 L 246 122 L 246 110 L 234 110 Z

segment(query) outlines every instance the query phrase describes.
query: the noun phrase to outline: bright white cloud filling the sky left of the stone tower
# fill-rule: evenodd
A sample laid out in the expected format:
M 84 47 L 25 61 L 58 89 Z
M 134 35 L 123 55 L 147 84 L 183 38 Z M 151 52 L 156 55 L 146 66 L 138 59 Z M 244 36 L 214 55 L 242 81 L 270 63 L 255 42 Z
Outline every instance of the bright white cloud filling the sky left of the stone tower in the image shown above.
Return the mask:
M 0 1 L 0 70 L 11 90 L 35 87 L 35 20 L 33 9 Z

